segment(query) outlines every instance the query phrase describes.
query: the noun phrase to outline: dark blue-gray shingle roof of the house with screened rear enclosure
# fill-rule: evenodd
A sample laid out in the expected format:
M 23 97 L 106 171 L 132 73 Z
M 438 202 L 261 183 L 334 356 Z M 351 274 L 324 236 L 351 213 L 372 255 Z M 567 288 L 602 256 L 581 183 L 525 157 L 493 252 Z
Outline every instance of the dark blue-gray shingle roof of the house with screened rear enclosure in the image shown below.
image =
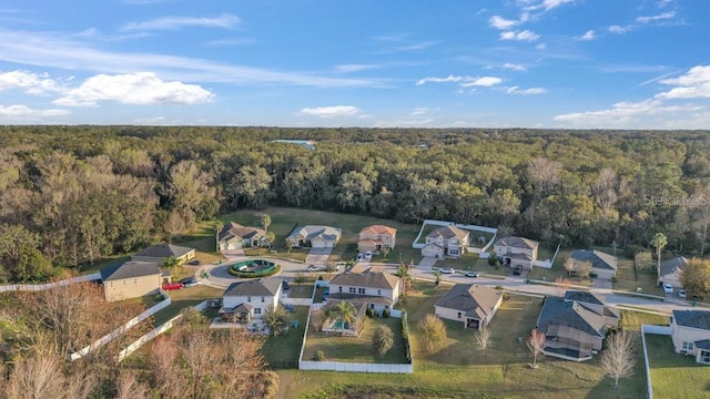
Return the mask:
M 604 317 L 561 297 L 548 297 L 540 310 L 537 328 L 547 332 L 550 326 L 570 327 L 601 338 L 605 332 Z

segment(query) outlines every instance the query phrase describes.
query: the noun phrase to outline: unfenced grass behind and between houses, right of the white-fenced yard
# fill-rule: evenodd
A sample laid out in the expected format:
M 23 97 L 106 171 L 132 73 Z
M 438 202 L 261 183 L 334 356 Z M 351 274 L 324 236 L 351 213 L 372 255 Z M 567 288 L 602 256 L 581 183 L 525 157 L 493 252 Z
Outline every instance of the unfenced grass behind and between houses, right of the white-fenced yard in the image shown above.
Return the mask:
M 474 344 L 473 331 L 446 321 L 447 337 L 434 351 L 417 325 L 447 287 L 418 283 L 407 294 L 413 375 L 347 374 L 280 370 L 280 398 L 641 398 L 646 382 L 641 350 L 636 374 L 613 382 L 605 378 L 599 357 L 581 364 L 542 358 L 530 369 L 525 338 L 535 327 L 541 299 L 511 295 L 494 317 L 494 346 L 484 355 Z M 636 315 L 636 314 L 632 314 Z M 625 315 L 626 317 L 626 315 Z M 638 329 L 656 316 L 629 317 L 625 328 Z M 662 318 L 661 318 L 662 320 Z M 667 320 L 667 319 L 666 319 Z M 640 348 L 640 338 L 638 339 Z

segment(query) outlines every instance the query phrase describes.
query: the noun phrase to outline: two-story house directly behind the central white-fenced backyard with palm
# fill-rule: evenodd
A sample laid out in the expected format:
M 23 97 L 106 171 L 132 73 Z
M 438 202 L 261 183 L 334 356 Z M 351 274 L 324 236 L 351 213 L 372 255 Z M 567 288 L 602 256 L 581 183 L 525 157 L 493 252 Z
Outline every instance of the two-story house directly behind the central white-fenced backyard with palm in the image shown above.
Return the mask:
M 331 279 L 328 301 L 365 303 L 379 314 L 399 299 L 399 278 L 381 272 L 341 273 Z

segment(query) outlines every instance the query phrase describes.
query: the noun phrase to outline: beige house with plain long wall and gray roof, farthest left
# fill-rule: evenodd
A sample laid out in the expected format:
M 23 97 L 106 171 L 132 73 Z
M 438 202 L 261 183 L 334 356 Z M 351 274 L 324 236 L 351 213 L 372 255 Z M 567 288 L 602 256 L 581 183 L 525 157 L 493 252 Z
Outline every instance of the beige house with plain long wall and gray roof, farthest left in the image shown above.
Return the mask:
M 126 262 L 100 270 L 106 301 L 138 298 L 160 290 L 163 274 L 153 262 Z

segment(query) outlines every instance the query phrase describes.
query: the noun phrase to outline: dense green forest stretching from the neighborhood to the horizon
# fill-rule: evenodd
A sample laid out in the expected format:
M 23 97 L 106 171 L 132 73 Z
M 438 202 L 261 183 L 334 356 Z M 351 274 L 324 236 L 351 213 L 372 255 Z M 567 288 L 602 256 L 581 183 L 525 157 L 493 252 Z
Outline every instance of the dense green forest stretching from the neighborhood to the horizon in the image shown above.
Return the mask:
M 277 139 L 316 141 L 315 150 Z M 0 280 L 50 278 L 267 205 L 703 256 L 701 131 L 4 126 Z

